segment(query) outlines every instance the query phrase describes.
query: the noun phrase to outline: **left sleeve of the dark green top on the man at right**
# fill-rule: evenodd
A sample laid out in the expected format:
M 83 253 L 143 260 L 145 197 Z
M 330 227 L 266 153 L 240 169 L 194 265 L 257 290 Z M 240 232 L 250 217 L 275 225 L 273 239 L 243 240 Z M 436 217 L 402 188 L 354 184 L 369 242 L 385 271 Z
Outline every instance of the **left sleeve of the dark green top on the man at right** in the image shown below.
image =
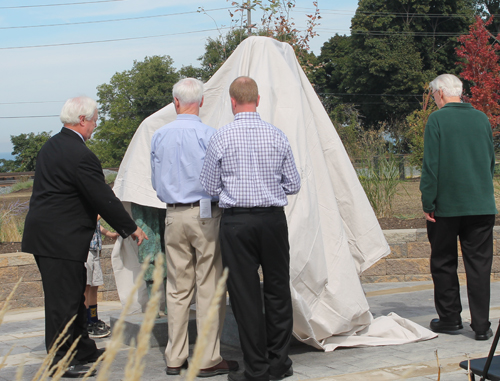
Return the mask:
M 432 115 L 425 126 L 424 160 L 420 177 L 422 192 L 422 209 L 431 213 L 436 209 L 439 171 L 439 128 Z

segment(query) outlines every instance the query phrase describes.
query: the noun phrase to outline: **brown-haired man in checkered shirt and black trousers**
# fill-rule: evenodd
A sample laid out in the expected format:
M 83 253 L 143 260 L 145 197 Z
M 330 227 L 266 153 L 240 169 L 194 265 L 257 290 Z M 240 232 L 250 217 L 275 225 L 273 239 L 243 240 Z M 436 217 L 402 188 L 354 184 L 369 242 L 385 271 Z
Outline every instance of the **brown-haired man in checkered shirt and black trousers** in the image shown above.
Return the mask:
M 245 372 L 230 372 L 228 379 L 282 379 L 293 374 L 290 245 L 283 207 L 287 195 L 300 190 L 300 176 L 285 134 L 256 112 L 255 81 L 239 77 L 229 94 L 235 120 L 210 139 L 200 176 L 223 210 L 222 261 L 229 268 L 227 286 L 245 362 Z

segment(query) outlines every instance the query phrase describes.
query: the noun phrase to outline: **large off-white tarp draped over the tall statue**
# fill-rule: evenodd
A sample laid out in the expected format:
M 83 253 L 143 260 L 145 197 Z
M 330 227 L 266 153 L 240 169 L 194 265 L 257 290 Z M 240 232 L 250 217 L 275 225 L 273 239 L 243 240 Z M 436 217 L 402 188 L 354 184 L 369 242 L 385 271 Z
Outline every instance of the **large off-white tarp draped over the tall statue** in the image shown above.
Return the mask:
M 389 315 L 373 319 L 359 275 L 390 253 L 377 218 L 330 118 L 300 67 L 292 47 L 267 37 L 244 40 L 205 84 L 203 123 L 220 128 L 233 120 L 229 86 L 239 76 L 259 86 L 258 112 L 288 137 L 302 189 L 285 208 L 290 240 L 294 335 L 326 351 L 338 346 L 402 344 L 435 337 L 431 331 Z M 151 185 L 154 132 L 176 118 L 173 104 L 137 129 L 115 180 L 116 195 L 165 209 Z M 120 299 L 139 271 L 137 246 L 121 238 L 112 262 Z M 135 311 L 147 301 L 146 287 Z

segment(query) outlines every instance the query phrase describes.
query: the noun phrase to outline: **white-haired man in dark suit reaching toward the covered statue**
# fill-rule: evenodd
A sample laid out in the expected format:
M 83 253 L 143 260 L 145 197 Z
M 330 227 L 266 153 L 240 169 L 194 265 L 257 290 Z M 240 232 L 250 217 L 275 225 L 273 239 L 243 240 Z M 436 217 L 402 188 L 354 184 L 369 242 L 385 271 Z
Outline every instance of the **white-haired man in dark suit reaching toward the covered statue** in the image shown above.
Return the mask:
M 140 245 L 147 239 L 104 180 L 97 157 L 87 148 L 97 121 L 97 104 L 88 97 L 64 104 L 61 132 L 38 153 L 30 210 L 26 216 L 22 249 L 32 253 L 42 276 L 45 294 L 45 345 L 47 352 L 70 325 L 69 339 L 56 352 L 57 364 L 80 337 L 74 360 L 65 377 L 81 377 L 85 364 L 103 353 L 88 337 L 84 304 L 85 261 L 100 214 L 123 238 Z

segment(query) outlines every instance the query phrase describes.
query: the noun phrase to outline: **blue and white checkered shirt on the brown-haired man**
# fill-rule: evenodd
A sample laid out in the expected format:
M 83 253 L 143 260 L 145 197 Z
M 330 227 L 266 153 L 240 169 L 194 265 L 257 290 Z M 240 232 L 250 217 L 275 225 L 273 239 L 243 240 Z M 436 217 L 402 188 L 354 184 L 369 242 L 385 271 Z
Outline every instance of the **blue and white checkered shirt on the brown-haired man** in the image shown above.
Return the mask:
M 236 114 L 212 136 L 200 182 L 221 208 L 285 206 L 300 190 L 286 135 L 256 112 Z

